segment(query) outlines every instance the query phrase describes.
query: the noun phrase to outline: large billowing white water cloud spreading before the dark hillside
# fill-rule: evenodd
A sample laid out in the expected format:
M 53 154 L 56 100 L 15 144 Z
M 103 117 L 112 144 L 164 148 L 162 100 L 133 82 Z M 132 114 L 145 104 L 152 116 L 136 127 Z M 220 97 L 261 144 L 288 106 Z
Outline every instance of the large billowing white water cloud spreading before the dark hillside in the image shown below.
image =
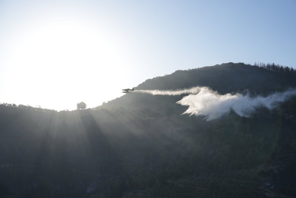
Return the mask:
M 277 103 L 284 102 L 296 95 L 296 90 L 276 92 L 267 97 L 249 95 L 225 94 L 220 95 L 207 87 L 202 87 L 198 94 L 190 94 L 177 102 L 183 106 L 189 106 L 183 114 L 206 116 L 207 121 L 216 119 L 223 114 L 228 114 L 232 109 L 239 116 L 250 117 L 257 107 L 263 106 L 269 110 L 276 107 Z

